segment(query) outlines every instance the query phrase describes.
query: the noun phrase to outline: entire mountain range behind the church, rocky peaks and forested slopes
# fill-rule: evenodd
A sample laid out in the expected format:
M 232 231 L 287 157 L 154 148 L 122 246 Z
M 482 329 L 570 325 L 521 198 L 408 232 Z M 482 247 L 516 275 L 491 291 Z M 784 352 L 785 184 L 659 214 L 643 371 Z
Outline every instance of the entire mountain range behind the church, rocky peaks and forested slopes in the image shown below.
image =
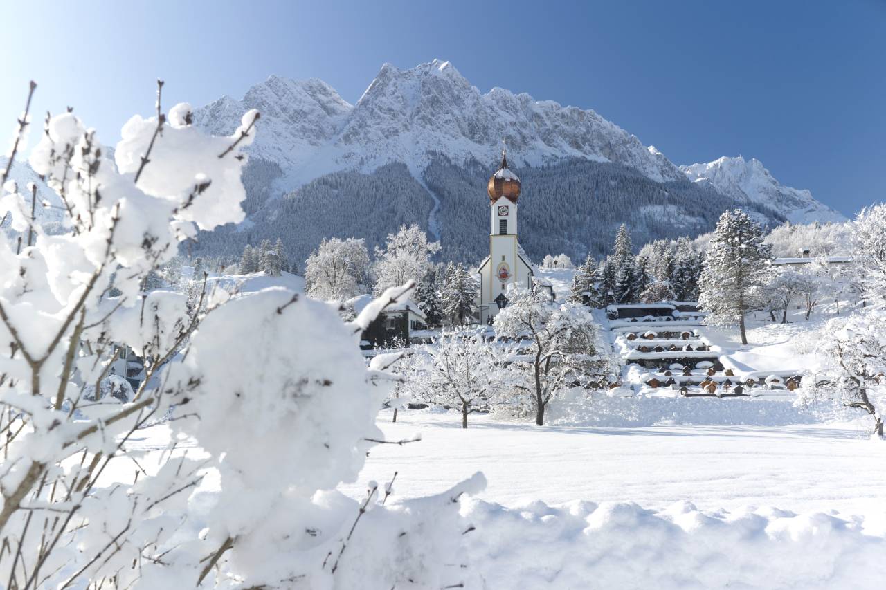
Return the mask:
M 442 242 L 443 260 L 479 260 L 502 139 L 523 180 L 520 241 L 532 257 L 600 256 L 623 222 L 636 244 L 694 237 L 734 206 L 768 224 L 843 220 L 756 160 L 677 167 L 592 110 L 482 93 L 446 61 L 385 64 L 355 105 L 321 80 L 271 76 L 195 120 L 229 135 L 251 108 L 262 116 L 243 175 L 247 220 L 202 234 L 195 251 L 234 256 L 281 237 L 305 260 L 323 237 L 362 237 L 371 250 L 417 223 Z

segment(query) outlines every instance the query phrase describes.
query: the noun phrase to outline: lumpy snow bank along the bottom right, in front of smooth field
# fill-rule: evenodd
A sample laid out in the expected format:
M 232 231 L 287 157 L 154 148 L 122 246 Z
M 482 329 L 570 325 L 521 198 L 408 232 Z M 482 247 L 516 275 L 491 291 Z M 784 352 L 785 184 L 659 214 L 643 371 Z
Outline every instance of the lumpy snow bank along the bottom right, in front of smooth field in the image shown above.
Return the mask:
M 869 588 L 886 538 L 859 517 L 775 508 L 653 511 L 631 502 L 467 501 L 475 587 Z

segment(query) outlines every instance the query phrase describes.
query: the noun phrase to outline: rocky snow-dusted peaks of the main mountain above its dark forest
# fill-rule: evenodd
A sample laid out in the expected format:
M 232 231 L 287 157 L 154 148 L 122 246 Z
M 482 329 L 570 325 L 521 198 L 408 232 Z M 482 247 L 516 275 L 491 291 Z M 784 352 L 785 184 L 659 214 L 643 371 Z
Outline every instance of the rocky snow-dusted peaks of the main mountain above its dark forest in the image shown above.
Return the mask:
M 416 174 L 435 153 L 494 166 L 502 139 L 516 167 L 581 158 L 632 167 L 657 182 L 680 177 L 660 152 L 594 111 L 501 88 L 482 94 L 447 61 L 408 70 L 385 64 L 353 106 L 325 82 L 271 76 L 242 100 L 222 97 L 195 115 L 199 125 L 230 133 L 250 108 L 262 113 L 253 154 L 278 163 L 295 183 L 391 162 Z

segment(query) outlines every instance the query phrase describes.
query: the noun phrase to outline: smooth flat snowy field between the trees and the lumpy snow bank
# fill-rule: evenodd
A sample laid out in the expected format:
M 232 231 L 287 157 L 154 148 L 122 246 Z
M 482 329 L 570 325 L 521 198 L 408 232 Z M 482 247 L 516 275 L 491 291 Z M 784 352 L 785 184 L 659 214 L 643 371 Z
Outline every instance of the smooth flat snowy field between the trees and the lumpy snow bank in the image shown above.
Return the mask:
M 482 497 L 510 507 L 580 500 L 658 509 L 691 501 L 705 510 L 886 516 L 886 470 L 871 469 L 886 464 L 886 446 L 869 440 L 867 424 L 539 428 L 474 415 L 462 430 L 455 413 L 390 418 L 383 412 L 378 421 L 386 439 L 419 433 L 422 440 L 374 448 L 361 481 L 348 488 L 355 496 L 366 481 L 386 481 L 393 471 L 404 496 L 439 493 L 483 471 Z

